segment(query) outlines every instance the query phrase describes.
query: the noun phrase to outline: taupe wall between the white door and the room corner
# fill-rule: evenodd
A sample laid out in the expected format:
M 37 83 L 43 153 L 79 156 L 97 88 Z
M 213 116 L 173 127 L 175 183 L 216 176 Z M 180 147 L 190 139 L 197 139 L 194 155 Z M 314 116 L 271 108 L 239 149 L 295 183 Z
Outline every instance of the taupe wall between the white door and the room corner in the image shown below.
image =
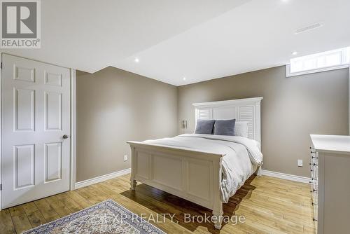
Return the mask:
M 128 140 L 177 133 L 173 85 L 107 67 L 95 74 L 78 73 L 76 86 L 76 181 L 130 168 Z

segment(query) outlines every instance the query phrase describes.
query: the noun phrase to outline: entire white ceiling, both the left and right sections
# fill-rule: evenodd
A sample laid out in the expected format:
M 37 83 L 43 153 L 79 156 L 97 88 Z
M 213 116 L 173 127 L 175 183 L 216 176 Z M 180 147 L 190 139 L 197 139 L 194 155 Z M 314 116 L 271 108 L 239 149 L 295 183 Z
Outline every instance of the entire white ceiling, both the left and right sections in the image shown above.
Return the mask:
M 173 85 L 276 67 L 294 50 L 350 46 L 349 0 L 41 2 L 42 48 L 6 52 L 88 72 L 111 65 Z M 323 27 L 294 33 L 316 22 Z

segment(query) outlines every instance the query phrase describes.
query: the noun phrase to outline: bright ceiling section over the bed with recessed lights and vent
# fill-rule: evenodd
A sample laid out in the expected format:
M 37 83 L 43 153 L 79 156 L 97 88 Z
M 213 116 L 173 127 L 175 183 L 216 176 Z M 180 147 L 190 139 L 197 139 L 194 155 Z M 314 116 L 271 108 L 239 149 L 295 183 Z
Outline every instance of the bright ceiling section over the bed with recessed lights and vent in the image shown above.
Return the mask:
M 349 0 L 253 0 L 135 53 L 138 64 L 132 56 L 114 66 L 174 85 L 276 67 L 294 50 L 307 55 L 350 46 L 349 9 Z M 294 33 L 315 22 L 323 27 Z

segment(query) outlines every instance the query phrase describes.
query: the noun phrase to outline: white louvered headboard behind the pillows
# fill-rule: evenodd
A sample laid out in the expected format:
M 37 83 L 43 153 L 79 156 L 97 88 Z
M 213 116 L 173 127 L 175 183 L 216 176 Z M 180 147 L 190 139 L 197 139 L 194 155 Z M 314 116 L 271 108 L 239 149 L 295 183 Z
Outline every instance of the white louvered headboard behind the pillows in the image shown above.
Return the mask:
M 220 102 L 194 103 L 195 123 L 198 119 L 232 119 L 248 122 L 248 138 L 261 142 L 260 102 L 262 97 Z

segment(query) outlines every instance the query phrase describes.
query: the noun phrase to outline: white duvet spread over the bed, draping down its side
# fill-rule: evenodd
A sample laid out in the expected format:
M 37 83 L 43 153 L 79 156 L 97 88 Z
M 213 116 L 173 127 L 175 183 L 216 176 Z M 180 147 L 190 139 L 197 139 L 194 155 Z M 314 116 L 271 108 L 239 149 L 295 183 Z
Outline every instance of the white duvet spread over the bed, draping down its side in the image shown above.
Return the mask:
M 262 164 L 258 142 L 246 137 L 183 134 L 172 138 L 148 140 L 160 144 L 225 154 L 222 160 L 221 200 L 225 203 Z

